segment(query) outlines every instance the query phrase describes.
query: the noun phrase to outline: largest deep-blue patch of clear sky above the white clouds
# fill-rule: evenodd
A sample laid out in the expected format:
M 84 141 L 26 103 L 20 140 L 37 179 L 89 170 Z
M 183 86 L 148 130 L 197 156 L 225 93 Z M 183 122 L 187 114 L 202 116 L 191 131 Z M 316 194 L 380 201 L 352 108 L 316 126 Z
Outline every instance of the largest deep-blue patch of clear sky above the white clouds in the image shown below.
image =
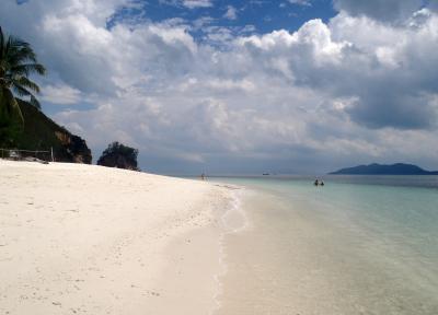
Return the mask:
M 187 22 L 211 19 L 209 25 L 222 27 L 254 26 L 254 32 L 268 33 L 274 30 L 297 31 L 312 19 L 327 21 L 335 15 L 332 1 L 199 1 L 199 7 L 187 8 L 177 1 L 137 1 L 136 8 L 126 7 L 110 20 L 110 27 L 117 21 L 139 19 L 162 22 L 170 19 L 183 19 Z M 193 5 L 193 4 L 192 4 Z M 229 11 L 231 10 L 231 11 Z M 227 12 L 231 15 L 227 15 Z M 195 35 L 199 35 L 194 32 Z

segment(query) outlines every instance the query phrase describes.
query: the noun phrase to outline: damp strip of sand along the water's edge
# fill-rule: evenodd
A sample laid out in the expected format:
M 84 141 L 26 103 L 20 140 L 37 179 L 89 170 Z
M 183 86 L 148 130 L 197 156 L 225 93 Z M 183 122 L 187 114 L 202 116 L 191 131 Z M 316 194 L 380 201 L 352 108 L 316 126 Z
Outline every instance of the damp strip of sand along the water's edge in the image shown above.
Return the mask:
M 170 292 L 166 303 L 172 304 L 163 314 L 215 314 L 220 308 L 220 278 L 227 272 L 223 238 L 237 232 L 224 225 L 223 218 L 239 211 L 239 197 L 232 190 L 241 188 L 208 185 L 215 186 L 216 196 L 212 202 L 210 199 L 208 223 L 176 235 L 163 250 L 165 264 L 157 283 Z M 175 268 L 175 261 L 183 261 L 180 268 Z

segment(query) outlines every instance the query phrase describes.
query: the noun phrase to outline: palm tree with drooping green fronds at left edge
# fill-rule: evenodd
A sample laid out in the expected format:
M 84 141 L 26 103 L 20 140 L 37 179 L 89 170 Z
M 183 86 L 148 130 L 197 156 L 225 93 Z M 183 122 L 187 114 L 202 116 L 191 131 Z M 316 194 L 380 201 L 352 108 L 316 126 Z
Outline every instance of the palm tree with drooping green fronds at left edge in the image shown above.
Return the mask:
M 0 142 L 4 140 L 1 138 L 8 138 L 5 133 L 16 126 L 15 122 L 24 122 L 15 95 L 28 97 L 30 101 L 20 101 L 41 108 L 34 95 L 39 93 L 39 86 L 28 77 L 32 73 L 43 75 L 45 72 L 31 45 L 5 35 L 0 26 Z

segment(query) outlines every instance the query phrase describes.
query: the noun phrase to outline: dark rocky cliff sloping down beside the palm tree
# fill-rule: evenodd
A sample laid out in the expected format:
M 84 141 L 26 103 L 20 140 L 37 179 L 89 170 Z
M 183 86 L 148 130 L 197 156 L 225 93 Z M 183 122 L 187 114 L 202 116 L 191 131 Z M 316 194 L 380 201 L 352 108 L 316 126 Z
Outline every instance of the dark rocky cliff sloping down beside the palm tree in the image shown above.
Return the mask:
M 57 125 L 41 110 L 24 102 L 19 102 L 24 118 L 24 130 L 16 138 L 16 149 L 49 151 L 54 149 L 56 162 L 91 164 L 91 150 L 85 140 Z M 38 154 L 50 160 L 50 154 Z

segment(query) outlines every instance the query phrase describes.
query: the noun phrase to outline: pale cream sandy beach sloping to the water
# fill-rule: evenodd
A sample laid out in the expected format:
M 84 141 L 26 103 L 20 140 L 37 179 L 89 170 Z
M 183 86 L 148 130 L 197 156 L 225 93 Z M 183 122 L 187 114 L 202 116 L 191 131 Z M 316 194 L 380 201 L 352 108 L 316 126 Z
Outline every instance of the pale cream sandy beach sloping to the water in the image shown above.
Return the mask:
M 227 187 L 0 160 L 0 314 L 209 314 Z

